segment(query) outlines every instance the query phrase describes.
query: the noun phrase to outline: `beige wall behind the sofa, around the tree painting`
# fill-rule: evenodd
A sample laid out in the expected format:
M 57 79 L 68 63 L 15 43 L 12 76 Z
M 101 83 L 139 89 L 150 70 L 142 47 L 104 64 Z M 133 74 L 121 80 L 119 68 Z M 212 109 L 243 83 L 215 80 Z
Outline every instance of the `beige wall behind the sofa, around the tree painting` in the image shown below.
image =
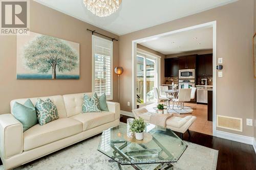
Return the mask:
M 86 29 L 116 37 L 86 22 L 30 1 L 30 30 L 80 44 L 79 80 L 16 80 L 16 36 L 0 36 L 0 114 L 10 112 L 10 101 L 17 98 L 92 91 L 92 34 Z M 113 45 L 113 67 L 119 65 L 119 41 Z M 113 72 L 114 101 L 117 76 Z

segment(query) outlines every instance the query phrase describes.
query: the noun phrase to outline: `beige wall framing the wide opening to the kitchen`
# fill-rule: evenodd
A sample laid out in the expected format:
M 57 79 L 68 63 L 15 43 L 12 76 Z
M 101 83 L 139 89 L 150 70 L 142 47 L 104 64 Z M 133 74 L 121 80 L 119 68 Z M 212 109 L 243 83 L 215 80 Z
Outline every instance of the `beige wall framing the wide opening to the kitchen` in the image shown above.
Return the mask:
M 132 106 L 132 40 L 217 20 L 217 57 L 223 58 L 223 78 L 217 78 L 217 114 L 243 118 L 243 132 L 253 136 L 246 118 L 253 118 L 253 0 L 237 1 L 161 25 L 120 36 L 121 110 Z

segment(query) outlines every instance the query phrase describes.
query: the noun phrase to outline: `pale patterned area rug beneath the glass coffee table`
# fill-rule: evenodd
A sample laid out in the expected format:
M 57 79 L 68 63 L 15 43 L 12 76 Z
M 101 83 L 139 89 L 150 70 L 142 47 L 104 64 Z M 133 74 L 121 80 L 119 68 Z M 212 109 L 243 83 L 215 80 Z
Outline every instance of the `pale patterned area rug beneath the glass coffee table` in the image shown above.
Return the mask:
M 15 169 L 119 169 L 117 163 L 109 163 L 110 158 L 97 151 L 99 141 L 100 135 L 96 135 Z M 216 169 L 218 159 L 217 150 L 188 141 L 185 142 L 188 144 L 188 148 L 177 163 L 172 163 L 174 169 Z M 147 164 L 143 166 L 140 165 L 140 167 L 142 169 L 154 169 L 157 165 L 158 164 Z M 129 170 L 134 169 L 129 165 L 123 165 L 122 168 Z M 3 165 L 0 166 L 0 169 L 4 169 Z

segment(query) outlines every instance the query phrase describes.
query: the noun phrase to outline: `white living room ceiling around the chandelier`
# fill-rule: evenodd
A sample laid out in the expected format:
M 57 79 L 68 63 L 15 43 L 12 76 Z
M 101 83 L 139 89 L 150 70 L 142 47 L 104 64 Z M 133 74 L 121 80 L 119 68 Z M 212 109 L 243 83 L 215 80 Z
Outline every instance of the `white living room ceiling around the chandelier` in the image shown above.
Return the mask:
M 124 35 L 237 0 L 122 0 L 119 10 L 108 17 L 93 15 L 84 7 L 82 0 L 34 1 L 117 35 Z

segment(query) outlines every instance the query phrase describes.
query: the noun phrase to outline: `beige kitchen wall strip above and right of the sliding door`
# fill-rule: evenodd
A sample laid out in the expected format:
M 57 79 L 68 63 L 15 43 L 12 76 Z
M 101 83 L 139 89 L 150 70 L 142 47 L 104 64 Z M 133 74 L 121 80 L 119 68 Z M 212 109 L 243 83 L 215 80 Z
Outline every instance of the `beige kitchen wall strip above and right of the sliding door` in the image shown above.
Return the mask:
M 161 57 L 161 73 L 160 73 L 160 82 L 161 84 L 164 84 L 165 83 L 165 77 L 164 77 L 164 59 L 165 59 L 165 55 L 160 53 L 160 52 L 157 52 L 155 50 L 152 50 L 151 48 L 148 48 L 146 46 L 143 46 L 141 44 L 137 44 L 137 48 L 140 48 L 141 50 L 144 50 L 144 51 L 147 51 L 149 53 L 152 53 L 152 54 L 155 54 L 155 55 L 158 55 Z

